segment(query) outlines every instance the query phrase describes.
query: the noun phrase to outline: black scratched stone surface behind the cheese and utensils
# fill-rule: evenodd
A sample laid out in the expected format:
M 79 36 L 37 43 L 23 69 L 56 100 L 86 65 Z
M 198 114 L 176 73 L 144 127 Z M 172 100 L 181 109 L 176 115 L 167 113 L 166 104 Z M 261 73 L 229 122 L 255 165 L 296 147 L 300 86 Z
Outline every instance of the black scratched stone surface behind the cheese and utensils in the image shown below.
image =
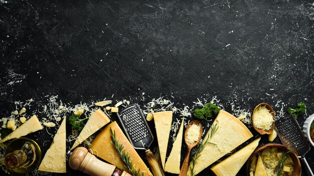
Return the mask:
M 0 0 L 1 116 L 31 97 L 137 102 L 142 92 L 140 105 L 162 95 L 192 106 L 217 95 L 249 109 L 304 101 L 311 114 L 313 8 L 310 0 Z M 306 157 L 314 168 L 313 150 Z M 82 175 L 68 170 L 52 175 Z

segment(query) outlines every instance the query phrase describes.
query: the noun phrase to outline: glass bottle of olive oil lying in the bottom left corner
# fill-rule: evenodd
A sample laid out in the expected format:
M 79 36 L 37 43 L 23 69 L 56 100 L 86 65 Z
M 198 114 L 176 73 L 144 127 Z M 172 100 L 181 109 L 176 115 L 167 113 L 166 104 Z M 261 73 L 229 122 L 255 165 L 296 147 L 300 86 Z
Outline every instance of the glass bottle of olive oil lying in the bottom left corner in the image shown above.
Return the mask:
M 38 144 L 26 137 L 13 140 L 7 147 L 5 165 L 11 175 L 33 171 L 40 164 L 41 149 Z

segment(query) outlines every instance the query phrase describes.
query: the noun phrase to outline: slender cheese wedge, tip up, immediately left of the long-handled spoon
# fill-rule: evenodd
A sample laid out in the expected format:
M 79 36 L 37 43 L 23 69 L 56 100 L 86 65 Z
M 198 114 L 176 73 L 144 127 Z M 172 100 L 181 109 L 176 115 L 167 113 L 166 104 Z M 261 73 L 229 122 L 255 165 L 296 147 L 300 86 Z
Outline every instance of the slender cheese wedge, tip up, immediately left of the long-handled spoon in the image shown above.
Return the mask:
M 170 155 L 165 164 L 165 171 L 171 173 L 180 173 L 180 158 L 181 158 L 181 145 L 182 145 L 182 135 L 183 135 L 183 125 L 184 119 L 182 119 L 179 132 L 177 134 L 176 140 L 170 152 Z

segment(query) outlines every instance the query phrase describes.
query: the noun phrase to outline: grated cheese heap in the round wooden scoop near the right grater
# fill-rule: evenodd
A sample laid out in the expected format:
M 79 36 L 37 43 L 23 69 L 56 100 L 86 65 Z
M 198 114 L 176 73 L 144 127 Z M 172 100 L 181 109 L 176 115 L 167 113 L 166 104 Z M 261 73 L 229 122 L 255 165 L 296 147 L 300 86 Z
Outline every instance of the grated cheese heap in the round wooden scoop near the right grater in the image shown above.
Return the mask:
M 271 128 L 271 124 L 275 121 L 269 109 L 263 105 L 257 107 L 253 115 L 254 126 L 262 130 L 268 131 Z

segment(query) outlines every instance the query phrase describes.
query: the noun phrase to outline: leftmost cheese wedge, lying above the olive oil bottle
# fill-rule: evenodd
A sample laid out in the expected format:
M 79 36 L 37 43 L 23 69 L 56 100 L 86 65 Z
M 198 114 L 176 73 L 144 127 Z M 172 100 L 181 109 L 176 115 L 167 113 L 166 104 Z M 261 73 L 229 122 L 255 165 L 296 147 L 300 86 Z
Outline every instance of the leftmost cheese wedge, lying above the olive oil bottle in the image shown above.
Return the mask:
M 40 124 L 37 116 L 33 115 L 30 119 L 28 119 L 25 123 L 19 126 L 16 130 L 14 130 L 5 138 L 0 140 L 0 143 L 13 139 L 13 138 L 19 138 L 21 136 L 38 131 L 40 129 L 43 129 L 43 126 Z

